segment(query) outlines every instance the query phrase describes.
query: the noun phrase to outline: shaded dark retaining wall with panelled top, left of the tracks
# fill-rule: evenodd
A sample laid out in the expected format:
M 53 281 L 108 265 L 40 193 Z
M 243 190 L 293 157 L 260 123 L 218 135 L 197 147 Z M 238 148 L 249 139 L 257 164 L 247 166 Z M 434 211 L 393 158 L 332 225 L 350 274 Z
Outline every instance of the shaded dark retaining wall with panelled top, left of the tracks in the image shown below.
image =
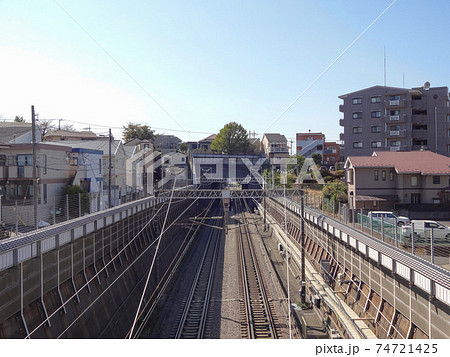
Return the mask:
M 166 227 L 194 206 L 172 203 Z M 145 198 L 1 241 L 0 337 L 123 338 L 166 213 L 162 199 Z M 167 231 L 150 285 L 163 279 L 186 231 Z

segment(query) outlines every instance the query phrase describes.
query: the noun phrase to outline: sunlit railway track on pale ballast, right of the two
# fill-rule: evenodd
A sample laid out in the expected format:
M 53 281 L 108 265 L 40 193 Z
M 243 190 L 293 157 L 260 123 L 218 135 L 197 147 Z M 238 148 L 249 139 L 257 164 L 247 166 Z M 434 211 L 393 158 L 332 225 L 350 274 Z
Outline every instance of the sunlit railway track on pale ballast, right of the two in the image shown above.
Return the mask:
M 245 207 L 244 207 L 245 206 Z M 242 290 L 244 298 L 241 302 L 241 336 L 242 338 L 279 337 L 276 328 L 274 307 L 265 289 L 261 270 L 250 237 L 245 202 L 239 203 L 241 222 L 239 223 L 239 260 L 241 266 Z

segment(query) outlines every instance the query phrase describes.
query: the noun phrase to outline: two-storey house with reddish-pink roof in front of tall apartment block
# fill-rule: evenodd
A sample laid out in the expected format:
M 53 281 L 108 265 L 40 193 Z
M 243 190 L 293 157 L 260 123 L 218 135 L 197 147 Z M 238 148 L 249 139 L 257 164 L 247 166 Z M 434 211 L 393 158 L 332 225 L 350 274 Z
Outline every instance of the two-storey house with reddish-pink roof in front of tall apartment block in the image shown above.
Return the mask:
M 348 157 L 345 169 L 350 208 L 391 210 L 450 203 L 450 158 L 444 155 L 376 151 L 372 156 Z

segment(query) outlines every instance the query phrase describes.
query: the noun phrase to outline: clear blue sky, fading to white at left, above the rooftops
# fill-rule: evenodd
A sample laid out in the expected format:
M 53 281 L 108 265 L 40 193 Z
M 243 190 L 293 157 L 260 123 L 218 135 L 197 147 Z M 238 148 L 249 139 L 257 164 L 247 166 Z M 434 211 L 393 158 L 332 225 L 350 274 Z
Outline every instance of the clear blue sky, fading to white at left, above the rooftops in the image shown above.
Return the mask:
M 269 127 L 392 2 L 2 0 L 0 118 L 33 104 L 97 133 L 137 122 L 199 140 L 236 121 L 337 140 L 338 96 L 383 84 L 384 47 L 387 85 L 450 85 L 450 1 L 397 0 Z

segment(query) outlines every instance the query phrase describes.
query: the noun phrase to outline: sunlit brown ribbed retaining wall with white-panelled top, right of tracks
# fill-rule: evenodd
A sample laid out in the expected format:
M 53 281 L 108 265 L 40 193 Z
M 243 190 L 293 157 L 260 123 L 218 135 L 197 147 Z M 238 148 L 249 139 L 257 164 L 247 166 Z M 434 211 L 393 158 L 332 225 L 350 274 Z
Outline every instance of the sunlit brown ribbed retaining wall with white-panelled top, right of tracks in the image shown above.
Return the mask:
M 282 199 L 268 213 L 285 220 Z M 287 201 L 287 231 L 300 242 L 300 204 Z M 450 338 L 450 272 L 305 208 L 307 259 L 378 338 Z M 327 271 L 324 271 L 326 267 Z M 313 292 L 313 294 L 315 294 Z M 325 304 L 324 316 L 339 326 Z

